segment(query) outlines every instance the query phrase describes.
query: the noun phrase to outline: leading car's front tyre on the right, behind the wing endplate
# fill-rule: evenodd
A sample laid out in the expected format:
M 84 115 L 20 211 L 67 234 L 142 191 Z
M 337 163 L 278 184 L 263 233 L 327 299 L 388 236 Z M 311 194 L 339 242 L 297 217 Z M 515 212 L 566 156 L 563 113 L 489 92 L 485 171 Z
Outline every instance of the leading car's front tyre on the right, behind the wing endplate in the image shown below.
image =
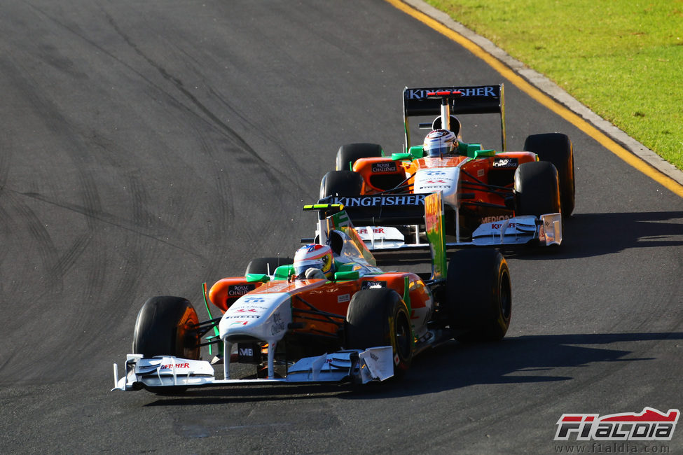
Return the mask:
M 392 346 L 394 375 L 408 370 L 413 361 L 413 329 L 406 303 L 396 291 L 364 289 L 351 297 L 345 344 L 347 349 Z

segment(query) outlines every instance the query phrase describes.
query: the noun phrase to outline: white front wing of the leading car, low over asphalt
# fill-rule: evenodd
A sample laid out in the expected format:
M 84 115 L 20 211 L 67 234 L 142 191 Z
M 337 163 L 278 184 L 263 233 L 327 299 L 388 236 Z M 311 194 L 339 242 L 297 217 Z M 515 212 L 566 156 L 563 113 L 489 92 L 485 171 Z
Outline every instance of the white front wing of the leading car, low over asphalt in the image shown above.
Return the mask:
M 120 391 L 163 387 L 188 388 L 226 386 L 234 384 L 301 384 L 312 382 L 350 381 L 366 384 L 384 381 L 394 375 L 391 346 L 349 350 L 298 360 L 287 369 L 286 377 L 267 379 L 216 379 L 214 367 L 205 360 L 190 360 L 173 356 L 143 358 L 128 354 L 125 375 L 118 377 L 118 365 L 113 364 L 114 387 Z

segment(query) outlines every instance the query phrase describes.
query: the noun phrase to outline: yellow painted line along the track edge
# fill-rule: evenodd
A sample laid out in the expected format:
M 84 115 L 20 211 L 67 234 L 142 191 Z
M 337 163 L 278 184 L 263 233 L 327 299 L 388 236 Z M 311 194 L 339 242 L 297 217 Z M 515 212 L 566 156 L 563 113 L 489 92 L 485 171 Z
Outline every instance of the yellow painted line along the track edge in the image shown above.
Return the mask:
M 553 111 L 561 118 L 564 118 L 567 120 L 567 122 L 579 128 L 579 130 L 585 132 L 589 137 L 592 137 L 595 139 L 595 141 L 598 141 L 601 146 L 607 148 L 607 150 L 628 163 L 628 165 L 634 167 L 638 171 L 642 172 L 642 174 L 645 174 L 657 183 L 660 183 L 672 193 L 675 193 L 679 197 L 683 197 L 683 186 L 677 181 L 658 171 L 641 158 L 626 150 L 626 148 L 623 148 L 616 141 L 614 141 L 614 139 L 610 138 L 607 136 L 607 134 L 601 132 L 598 130 L 598 128 L 591 125 L 591 123 L 588 123 L 576 113 L 570 111 L 570 109 L 567 109 L 562 104 L 556 102 L 554 99 L 551 99 L 551 97 L 546 95 L 544 92 L 541 92 L 541 90 L 539 90 L 537 87 L 534 87 L 534 85 L 529 83 L 525 78 L 519 76 L 516 72 L 510 69 L 509 66 L 483 50 L 483 48 L 481 48 L 481 46 L 478 44 L 457 33 L 457 31 L 446 27 L 446 25 L 443 25 L 438 20 L 429 17 L 429 15 L 422 13 L 420 10 L 413 8 L 413 6 L 403 3 L 401 0 L 385 1 L 394 6 L 394 8 L 403 11 L 403 13 L 412 16 L 428 27 L 438 31 L 440 34 L 460 44 L 463 48 L 469 50 L 469 52 L 491 66 L 492 69 L 495 69 L 495 71 L 513 83 L 513 85 L 516 85 L 516 87 L 532 97 L 532 99 L 536 100 L 547 109 Z

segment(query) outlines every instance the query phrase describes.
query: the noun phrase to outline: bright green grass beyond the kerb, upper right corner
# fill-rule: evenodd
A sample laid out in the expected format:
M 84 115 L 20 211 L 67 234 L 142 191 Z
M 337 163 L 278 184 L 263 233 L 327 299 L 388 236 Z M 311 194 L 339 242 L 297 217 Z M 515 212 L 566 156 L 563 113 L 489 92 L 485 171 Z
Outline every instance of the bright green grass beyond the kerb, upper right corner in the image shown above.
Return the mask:
M 683 0 L 426 0 L 683 169 Z

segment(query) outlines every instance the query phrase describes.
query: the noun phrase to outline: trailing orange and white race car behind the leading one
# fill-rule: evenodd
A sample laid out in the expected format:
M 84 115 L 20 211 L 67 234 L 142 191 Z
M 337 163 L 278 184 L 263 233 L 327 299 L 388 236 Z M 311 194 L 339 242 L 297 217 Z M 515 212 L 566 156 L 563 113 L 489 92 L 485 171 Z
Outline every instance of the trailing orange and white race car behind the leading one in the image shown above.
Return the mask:
M 462 142 L 453 114 L 500 116 L 502 151 Z M 448 245 L 560 244 L 574 210 L 574 155 L 565 134 L 532 134 L 524 151 L 506 151 L 503 85 L 406 88 L 406 149 L 347 144 L 320 184 L 320 202 L 343 204 L 370 249 L 420 246 L 425 196 L 443 193 Z M 432 132 L 411 146 L 408 118 Z

